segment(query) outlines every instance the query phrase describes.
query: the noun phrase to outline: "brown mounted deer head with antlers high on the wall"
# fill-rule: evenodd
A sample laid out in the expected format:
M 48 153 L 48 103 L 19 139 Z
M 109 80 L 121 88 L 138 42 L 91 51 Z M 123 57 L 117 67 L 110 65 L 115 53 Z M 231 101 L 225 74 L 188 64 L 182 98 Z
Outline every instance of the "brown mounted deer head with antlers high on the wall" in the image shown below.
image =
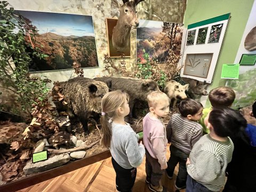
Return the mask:
M 136 29 L 139 26 L 139 20 L 136 15 L 136 5 L 145 0 L 123 0 L 121 6 L 116 0 L 112 0 L 118 5 L 120 15 L 117 24 L 113 29 L 112 43 L 116 50 L 122 51 L 129 45 L 131 28 Z

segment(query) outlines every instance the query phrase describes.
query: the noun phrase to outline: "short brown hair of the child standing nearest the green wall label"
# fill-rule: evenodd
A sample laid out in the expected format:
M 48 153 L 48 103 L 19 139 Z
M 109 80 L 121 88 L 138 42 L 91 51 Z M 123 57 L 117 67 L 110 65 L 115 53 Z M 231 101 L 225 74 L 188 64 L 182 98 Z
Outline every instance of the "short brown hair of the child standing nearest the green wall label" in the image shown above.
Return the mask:
M 212 89 L 208 98 L 212 107 L 230 107 L 236 98 L 236 93 L 231 87 L 220 86 Z

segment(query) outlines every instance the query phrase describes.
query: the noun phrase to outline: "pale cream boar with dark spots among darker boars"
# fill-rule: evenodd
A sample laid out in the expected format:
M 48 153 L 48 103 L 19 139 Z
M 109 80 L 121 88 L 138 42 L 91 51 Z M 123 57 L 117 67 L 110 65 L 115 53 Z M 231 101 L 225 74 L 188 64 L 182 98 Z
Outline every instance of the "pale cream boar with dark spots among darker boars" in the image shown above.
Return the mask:
M 170 103 L 172 102 L 172 99 L 173 99 L 172 108 L 175 108 L 176 103 L 177 103 L 177 99 L 187 98 L 187 95 L 185 93 L 186 90 L 188 90 L 188 84 L 181 85 L 180 83 L 172 80 L 172 81 L 166 82 L 163 91 L 170 98 Z

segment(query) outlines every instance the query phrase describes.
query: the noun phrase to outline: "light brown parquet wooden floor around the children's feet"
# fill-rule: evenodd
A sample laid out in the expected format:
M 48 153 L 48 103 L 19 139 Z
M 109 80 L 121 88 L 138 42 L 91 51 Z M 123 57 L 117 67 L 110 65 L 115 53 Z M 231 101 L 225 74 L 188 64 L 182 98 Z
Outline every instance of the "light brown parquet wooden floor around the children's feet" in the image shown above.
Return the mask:
M 167 159 L 170 157 L 169 146 L 167 146 Z M 145 183 L 145 157 L 142 164 L 137 169 L 137 177 L 133 187 L 134 192 L 149 192 L 148 185 Z M 178 167 L 176 167 L 173 179 L 168 179 L 164 174 L 162 184 L 167 188 L 167 191 L 176 191 L 174 182 Z M 65 191 L 65 192 L 110 192 L 115 191 L 115 171 L 111 164 L 111 157 L 103 161 L 85 166 L 81 169 L 60 175 L 59 177 L 46 180 L 37 185 L 30 186 L 19 192 L 36 192 L 36 191 Z M 185 192 L 185 189 L 180 190 Z

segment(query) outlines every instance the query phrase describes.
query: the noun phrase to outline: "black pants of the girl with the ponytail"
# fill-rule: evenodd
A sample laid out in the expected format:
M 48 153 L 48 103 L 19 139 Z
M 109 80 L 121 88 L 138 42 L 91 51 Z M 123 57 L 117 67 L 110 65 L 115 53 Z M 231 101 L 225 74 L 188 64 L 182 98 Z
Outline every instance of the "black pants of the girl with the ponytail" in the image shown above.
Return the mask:
M 122 166 L 118 165 L 113 157 L 111 158 L 111 161 L 116 172 L 116 189 L 122 192 L 132 191 L 136 179 L 137 168 L 124 169 Z

